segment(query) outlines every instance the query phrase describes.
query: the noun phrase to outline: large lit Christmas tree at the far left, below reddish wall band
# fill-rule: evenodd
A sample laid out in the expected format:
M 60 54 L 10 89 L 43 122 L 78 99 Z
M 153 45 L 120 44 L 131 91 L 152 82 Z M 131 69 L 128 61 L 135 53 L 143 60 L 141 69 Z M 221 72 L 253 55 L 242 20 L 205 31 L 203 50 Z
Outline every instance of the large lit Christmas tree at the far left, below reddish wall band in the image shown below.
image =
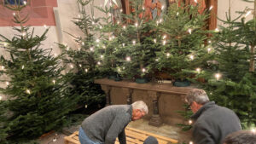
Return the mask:
M 34 36 L 34 29 L 25 26 L 29 16 L 22 9 L 26 4 L 24 1 L 22 5 L 6 5 L 14 11 L 14 22 L 20 26 L 13 27 L 17 34 L 11 39 L 0 35 L 10 55 L 1 55 L 0 61 L 3 74 L 9 78 L 1 81 L 6 87 L 0 89 L 9 98 L 5 101 L 8 123 L 1 123 L 9 141 L 31 140 L 49 130 L 60 129 L 76 102 L 74 97 L 66 96 L 69 88 L 61 75 L 62 55 L 53 56 L 52 49 L 40 48 L 49 28 L 41 36 Z

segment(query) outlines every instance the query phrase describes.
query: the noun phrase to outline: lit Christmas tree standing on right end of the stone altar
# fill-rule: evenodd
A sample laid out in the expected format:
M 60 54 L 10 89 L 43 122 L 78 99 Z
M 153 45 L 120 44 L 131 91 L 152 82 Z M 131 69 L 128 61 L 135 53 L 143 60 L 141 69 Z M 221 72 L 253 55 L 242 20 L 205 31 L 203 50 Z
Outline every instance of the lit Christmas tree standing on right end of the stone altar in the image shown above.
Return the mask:
M 158 24 L 162 36 L 157 41 L 162 46 L 156 53 L 155 65 L 160 72 L 168 72 L 176 80 L 194 77 L 207 67 L 204 61 L 211 58 L 206 23 L 209 9 L 199 13 L 200 8 L 198 3 L 172 3 L 163 22 Z

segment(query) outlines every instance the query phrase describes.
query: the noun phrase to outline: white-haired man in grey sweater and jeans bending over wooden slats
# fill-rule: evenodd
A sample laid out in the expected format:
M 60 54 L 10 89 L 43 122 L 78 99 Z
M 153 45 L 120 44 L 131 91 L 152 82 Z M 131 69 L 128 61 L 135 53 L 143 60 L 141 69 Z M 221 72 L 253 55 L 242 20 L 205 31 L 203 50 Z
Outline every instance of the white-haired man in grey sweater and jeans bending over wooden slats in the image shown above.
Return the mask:
M 118 137 L 120 144 L 126 144 L 126 125 L 146 114 L 148 107 L 143 101 L 104 107 L 84 119 L 79 130 L 79 141 L 81 144 L 114 144 Z

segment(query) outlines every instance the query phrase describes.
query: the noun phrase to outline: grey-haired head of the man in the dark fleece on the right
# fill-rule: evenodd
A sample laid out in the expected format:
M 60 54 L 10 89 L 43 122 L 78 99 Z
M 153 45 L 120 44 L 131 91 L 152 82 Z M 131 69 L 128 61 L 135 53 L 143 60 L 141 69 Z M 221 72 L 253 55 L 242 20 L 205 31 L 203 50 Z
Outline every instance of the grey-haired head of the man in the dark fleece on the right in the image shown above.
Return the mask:
M 209 102 L 209 98 L 205 90 L 203 89 L 192 89 L 189 91 L 188 95 L 186 95 L 185 99 L 192 112 L 197 112 L 204 104 Z

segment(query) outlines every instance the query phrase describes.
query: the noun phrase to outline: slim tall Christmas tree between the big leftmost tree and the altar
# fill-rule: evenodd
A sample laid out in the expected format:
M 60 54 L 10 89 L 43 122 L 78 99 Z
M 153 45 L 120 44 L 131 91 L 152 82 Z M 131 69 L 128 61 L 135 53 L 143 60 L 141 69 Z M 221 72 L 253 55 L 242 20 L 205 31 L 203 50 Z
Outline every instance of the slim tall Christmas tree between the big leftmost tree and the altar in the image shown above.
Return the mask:
M 91 4 L 91 1 L 78 0 L 79 18 L 73 20 L 76 26 L 79 26 L 83 37 L 74 37 L 75 41 L 79 43 L 79 49 L 70 49 L 67 45 L 60 44 L 65 64 L 70 68 L 65 78 L 68 79 L 73 89 L 71 89 L 71 96 L 78 98 L 79 107 L 89 107 L 92 103 L 102 104 L 104 100 L 104 92 L 99 84 L 94 84 L 95 78 L 101 78 L 104 75 L 98 69 L 98 54 L 96 50 L 96 38 L 94 36 L 95 23 L 99 19 L 94 19 L 93 16 L 87 14 L 85 7 Z M 92 4 L 90 8 L 93 9 Z M 93 15 L 93 10 L 92 10 Z

